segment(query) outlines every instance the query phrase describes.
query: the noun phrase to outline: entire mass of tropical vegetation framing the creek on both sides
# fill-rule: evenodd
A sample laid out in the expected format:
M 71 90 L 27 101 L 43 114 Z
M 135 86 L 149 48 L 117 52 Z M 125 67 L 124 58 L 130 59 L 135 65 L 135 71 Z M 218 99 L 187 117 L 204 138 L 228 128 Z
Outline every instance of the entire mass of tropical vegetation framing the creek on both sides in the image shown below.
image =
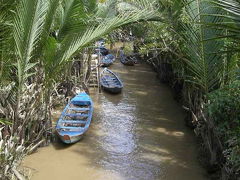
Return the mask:
M 92 43 L 105 35 L 111 43 L 133 41 L 135 55 L 172 86 L 188 112 L 187 125 L 208 154 L 209 172 L 218 172 L 217 179 L 239 177 L 238 0 L 0 0 L 0 4 L 4 178 L 19 176 L 16 166 L 6 163 L 18 159 L 11 151 L 11 161 L 6 160 L 7 141 L 21 152 L 50 141 L 51 109 L 59 86 L 65 82 L 72 89 L 73 69 L 78 74 L 75 81 L 85 86 L 84 54 L 90 54 Z

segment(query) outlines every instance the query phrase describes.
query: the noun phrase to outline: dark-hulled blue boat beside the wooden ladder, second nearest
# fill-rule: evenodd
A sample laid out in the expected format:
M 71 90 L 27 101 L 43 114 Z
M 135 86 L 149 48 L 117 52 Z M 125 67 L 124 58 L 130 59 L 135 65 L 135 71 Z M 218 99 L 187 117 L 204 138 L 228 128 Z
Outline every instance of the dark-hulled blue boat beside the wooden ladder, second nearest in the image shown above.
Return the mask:
M 123 83 L 118 76 L 107 68 L 104 68 L 101 73 L 100 84 L 104 90 L 115 94 L 120 93 L 123 88 Z

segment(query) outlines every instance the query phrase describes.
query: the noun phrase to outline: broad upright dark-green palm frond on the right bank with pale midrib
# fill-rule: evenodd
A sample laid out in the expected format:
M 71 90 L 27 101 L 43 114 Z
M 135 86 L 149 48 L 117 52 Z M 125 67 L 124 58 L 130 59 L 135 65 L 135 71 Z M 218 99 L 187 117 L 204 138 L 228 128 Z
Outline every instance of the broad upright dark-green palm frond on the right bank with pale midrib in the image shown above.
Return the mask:
M 186 1 L 187 2 L 187 1 Z M 223 48 L 223 41 L 218 40 L 222 30 L 208 28 L 202 23 L 221 23 L 221 17 L 203 16 L 203 14 L 220 13 L 218 8 L 207 2 L 187 2 L 186 13 L 190 19 L 187 24 L 182 24 L 185 40 L 185 52 L 189 60 L 186 77 L 190 82 L 198 84 L 207 93 L 219 86 L 223 71 L 223 56 L 216 54 Z M 208 40 L 206 39 L 213 39 Z

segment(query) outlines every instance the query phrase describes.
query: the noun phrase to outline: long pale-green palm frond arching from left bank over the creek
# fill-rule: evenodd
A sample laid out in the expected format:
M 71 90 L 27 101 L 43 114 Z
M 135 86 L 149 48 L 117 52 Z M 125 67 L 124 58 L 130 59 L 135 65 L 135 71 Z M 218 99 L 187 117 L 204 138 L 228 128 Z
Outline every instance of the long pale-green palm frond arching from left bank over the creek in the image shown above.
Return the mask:
M 144 0 L 145 1 L 145 0 Z M 116 17 L 107 18 L 99 25 L 90 25 L 84 33 L 76 33 L 75 35 L 67 36 L 63 42 L 63 51 L 60 52 L 60 60 L 68 60 L 79 49 L 88 45 L 89 43 L 97 40 L 99 37 L 106 35 L 110 31 L 129 24 L 137 22 L 139 20 L 148 20 L 156 16 L 156 11 L 153 8 L 153 4 L 147 3 L 147 7 L 141 9 L 135 9 L 129 12 L 124 12 Z

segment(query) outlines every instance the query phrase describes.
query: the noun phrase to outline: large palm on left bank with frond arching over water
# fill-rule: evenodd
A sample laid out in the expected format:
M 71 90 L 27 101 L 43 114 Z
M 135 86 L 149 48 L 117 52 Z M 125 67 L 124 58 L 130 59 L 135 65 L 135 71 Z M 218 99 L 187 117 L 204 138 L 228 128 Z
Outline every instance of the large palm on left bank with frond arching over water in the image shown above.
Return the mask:
M 4 35 L 11 43 L 4 45 L 1 56 L 11 59 L 6 69 L 14 85 L 11 98 L 1 109 L 6 119 L 12 120 L 12 133 L 34 143 L 42 139 L 39 134 L 48 136 L 52 87 L 65 64 L 112 30 L 154 17 L 153 3 L 136 0 L 131 2 L 131 9 L 121 11 L 115 1 L 98 6 L 95 0 L 20 0 L 11 7 L 15 11 L 8 24 L 11 31 Z M 104 16 L 110 4 L 116 13 Z M 99 13 L 103 6 L 105 10 Z

